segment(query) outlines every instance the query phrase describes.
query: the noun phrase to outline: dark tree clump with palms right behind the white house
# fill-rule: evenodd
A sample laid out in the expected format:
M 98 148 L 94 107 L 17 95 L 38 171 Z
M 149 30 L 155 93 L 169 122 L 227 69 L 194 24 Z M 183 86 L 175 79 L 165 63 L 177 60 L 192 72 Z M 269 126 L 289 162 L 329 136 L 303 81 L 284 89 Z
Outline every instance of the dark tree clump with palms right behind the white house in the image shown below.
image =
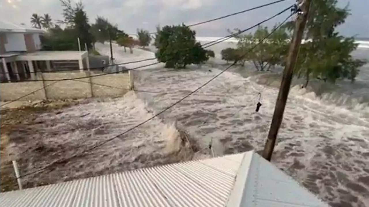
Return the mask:
M 65 29 L 58 24 L 52 23 L 51 16 L 44 14 L 39 16 L 33 14 L 31 24 L 34 27 L 43 27 L 48 32 L 41 38 L 44 50 L 78 50 L 77 38 L 80 39 L 81 48 L 90 50 L 96 42 L 105 42 L 112 38 L 117 40 L 120 37 L 128 37 L 116 25 L 111 24 L 106 18 L 98 16 L 95 23 L 90 25 L 81 1 L 72 4 L 71 0 L 60 0 L 63 6 L 63 20 L 59 23 L 65 24 Z

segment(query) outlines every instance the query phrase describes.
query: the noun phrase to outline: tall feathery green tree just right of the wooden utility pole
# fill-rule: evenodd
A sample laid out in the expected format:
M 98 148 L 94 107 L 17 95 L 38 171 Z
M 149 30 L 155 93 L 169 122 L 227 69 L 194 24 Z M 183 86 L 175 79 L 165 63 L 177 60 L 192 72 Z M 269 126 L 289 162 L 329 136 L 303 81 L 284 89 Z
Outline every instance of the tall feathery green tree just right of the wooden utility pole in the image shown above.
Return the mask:
M 337 79 L 355 80 L 358 68 L 365 61 L 354 59 L 351 52 L 357 48 L 353 37 L 343 37 L 335 29 L 345 23 L 350 15 L 348 6 L 339 8 L 337 0 L 314 1 L 308 15 L 305 39 L 295 68 L 297 77 L 302 75 L 306 87 L 311 78 L 334 83 Z M 287 24 L 292 30 L 293 23 Z

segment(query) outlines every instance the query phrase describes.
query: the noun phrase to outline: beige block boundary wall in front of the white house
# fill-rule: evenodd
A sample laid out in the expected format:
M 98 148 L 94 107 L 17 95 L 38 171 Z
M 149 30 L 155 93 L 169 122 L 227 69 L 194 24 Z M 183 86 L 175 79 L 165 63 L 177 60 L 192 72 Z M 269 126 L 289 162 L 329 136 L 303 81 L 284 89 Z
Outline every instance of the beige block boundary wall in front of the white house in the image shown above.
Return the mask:
M 90 97 L 116 97 L 122 96 L 130 89 L 131 73 L 108 74 L 103 76 L 88 77 L 90 72 L 55 72 L 40 73 L 38 80 L 67 79 L 86 77 L 77 80 L 39 81 L 0 83 L 0 101 L 10 101 L 20 98 L 25 94 L 38 90 L 36 93 L 26 96 L 24 100 L 41 99 L 83 99 Z M 94 75 L 94 74 L 91 74 Z M 96 75 L 96 74 L 95 74 Z M 45 86 L 45 87 L 44 87 Z

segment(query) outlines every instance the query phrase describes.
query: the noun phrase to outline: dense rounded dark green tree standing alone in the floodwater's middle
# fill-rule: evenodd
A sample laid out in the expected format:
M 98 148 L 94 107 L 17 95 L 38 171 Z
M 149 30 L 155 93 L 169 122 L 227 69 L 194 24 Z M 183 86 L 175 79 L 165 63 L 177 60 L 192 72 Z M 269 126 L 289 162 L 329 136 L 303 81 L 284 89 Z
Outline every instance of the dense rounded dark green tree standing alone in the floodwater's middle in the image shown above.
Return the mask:
M 208 60 L 206 51 L 196 42 L 196 32 L 186 25 L 166 25 L 157 34 L 155 53 L 166 68 L 186 68 L 189 64 L 199 64 Z

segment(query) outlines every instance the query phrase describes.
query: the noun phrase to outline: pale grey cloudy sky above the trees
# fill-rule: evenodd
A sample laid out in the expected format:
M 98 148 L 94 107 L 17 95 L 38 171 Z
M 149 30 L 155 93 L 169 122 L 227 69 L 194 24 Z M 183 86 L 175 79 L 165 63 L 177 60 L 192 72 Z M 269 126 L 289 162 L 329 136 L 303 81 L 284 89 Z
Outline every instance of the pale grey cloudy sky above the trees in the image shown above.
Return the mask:
M 118 28 L 135 33 L 136 28 L 155 31 L 155 25 L 196 23 L 221 15 L 234 13 L 274 0 L 82 0 L 90 23 L 97 15 L 104 16 Z M 338 0 L 340 5 L 350 3 L 352 15 L 339 30 L 343 35 L 369 37 L 368 0 Z M 198 36 L 220 37 L 227 35 L 227 28 L 247 28 L 290 6 L 287 0 L 273 6 L 193 27 Z M 62 7 L 59 0 L 0 0 L 0 18 L 13 23 L 30 25 L 32 13 L 51 15 L 61 19 Z M 274 25 L 284 20 L 288 12 L 270 20 Z

